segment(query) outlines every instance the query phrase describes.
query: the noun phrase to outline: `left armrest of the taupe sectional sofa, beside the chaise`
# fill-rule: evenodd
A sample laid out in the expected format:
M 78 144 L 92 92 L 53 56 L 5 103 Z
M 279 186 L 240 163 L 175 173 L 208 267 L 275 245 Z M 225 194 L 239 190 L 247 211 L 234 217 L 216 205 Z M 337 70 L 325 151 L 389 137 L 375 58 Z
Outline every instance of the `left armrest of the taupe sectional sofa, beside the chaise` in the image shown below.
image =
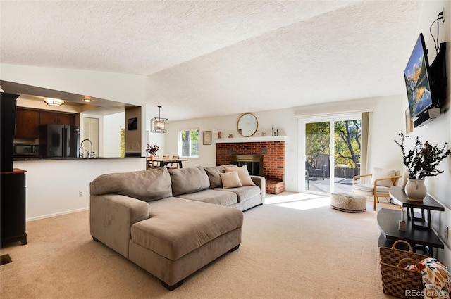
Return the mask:
M 90 196 L 91 236 L 128 258 L 130 229 L 149 218 L 149 204 L 118 194 Z

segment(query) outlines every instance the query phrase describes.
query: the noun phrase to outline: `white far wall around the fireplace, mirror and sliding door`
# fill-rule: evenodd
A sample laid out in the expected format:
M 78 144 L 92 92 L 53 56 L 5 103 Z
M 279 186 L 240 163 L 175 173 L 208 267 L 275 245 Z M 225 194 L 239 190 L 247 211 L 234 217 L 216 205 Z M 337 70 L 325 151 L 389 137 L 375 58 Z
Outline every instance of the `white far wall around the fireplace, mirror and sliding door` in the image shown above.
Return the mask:
M 300 136 L 301 132 L 298 132 L 298 119 L 313 115 L 371 110 L 372 125 L 369 141 L 372 146 L 369 153 L 371 167 L 402 169 L 400 150 L 393 140 L 397 137 L 397 134 L 404 130 L 403 101 L 407 101 L 407 99 L 398 95 L 256 112 L 253 114 L 257 117 L 259 127 L 254 136 L 261 136 L 261 132 L 266 132 L 266 136 L 271 136 L 272 128 L 278 129 L 279 136 L 288 136 L 287 141 L 285 141 L 285 190 L 297 192 L 299 191 L 299 161 L 302 161 L 302 163 L 304 161 L 300 155 L 301 151 L 299 151 L 299 138 L 304 138 L 304 136 Z M 238 137 L 240 134 L 237 132 L 237 121 L 240 116 L 229 115 L 171 122 L 171 129 L 166 134 L 165 153 L 169 155 L 177 153 L 177 134 L 182 129 L 199 128 L 201 136 L 202 131 L 211 131 L 213 139 L 217 138 L 218 131 L 222 132 L 223 138 L 227 138 L 228 134 Z M 216 145 L 214 141 L 211 146 L 204 146 L 201 142 L 199 158 L 192 158 L 184 165 L 187 167 L 216 165 Z

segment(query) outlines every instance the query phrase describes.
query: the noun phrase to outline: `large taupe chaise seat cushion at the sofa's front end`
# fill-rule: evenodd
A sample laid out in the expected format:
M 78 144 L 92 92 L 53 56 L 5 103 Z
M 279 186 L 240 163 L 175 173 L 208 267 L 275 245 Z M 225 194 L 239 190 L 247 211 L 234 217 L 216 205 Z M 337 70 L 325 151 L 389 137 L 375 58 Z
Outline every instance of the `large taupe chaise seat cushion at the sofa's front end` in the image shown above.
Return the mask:
M 169 260 L 178 260 L 243 222 L 238 209 L 174 197 L 150 202 L 149 213 L 149 219 L 133 224 L 132 241 Z

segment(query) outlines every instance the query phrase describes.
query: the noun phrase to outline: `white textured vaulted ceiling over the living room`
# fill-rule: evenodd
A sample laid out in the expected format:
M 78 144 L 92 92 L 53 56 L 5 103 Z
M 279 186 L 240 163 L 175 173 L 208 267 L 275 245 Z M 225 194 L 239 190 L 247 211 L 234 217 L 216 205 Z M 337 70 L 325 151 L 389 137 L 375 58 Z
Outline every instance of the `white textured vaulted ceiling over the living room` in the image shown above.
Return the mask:
M 195 117 L 402 94 L 421 1 L 0 1 L 0 61 L 147 75 Z

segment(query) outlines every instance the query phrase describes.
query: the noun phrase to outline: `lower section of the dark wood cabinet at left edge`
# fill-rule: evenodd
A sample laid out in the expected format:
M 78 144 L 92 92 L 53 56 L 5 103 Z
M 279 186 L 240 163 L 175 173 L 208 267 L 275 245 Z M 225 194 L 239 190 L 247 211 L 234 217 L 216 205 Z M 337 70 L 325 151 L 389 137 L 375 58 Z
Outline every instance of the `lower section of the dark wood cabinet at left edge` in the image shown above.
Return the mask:
M 1 246 L 6 243 L 27 243 L 25 232 L 25 172 L 14 168 L 1 172 Z

